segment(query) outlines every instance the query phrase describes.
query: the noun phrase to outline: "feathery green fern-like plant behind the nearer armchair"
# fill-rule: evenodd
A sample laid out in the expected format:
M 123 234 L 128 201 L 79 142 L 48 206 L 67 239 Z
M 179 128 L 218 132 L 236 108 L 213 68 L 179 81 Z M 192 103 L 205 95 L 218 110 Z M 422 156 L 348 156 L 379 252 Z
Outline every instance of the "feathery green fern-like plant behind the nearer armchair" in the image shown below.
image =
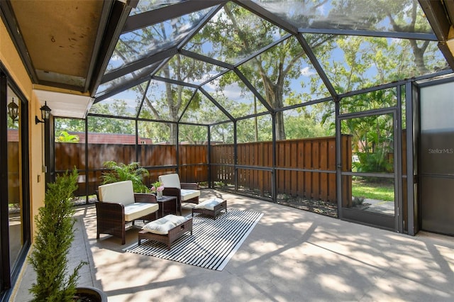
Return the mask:
M 143 177 L 149 175 L 148 170 L 140 167 L 138 162 L 131 162 L 131 164 L 116 163 L 114 161 L 104 162 L 104 167 L 111 169 L 109 172 L 104 172 L 101 176 L 102 184 L 111 184 L 116 181 L 133 181 L 133 191 L 135 193 L 149 193 L 145 184 L 143 184 Z

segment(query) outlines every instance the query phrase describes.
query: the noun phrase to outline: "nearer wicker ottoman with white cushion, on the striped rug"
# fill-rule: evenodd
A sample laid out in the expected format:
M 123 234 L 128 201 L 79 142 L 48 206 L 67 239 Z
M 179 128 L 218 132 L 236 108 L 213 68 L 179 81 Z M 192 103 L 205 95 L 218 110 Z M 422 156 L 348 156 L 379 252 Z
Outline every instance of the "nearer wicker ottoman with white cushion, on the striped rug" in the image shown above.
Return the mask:
M 186 232 L 192 235 L 192 218 L 167 215 L 143 226 L 138 233 L 138 245 L 142 239 L 162 242 L 170 250 L 172 243 Z

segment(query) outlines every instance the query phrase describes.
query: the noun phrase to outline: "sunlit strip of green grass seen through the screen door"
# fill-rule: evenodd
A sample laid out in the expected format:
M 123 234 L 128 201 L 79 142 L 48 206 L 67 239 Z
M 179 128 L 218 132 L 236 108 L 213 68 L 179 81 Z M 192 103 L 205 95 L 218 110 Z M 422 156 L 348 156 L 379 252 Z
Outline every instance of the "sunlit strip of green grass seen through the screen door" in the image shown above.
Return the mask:
M 394 184 L 384 181 L 364 181 L 353 179 L 352 194 L 354 197 L 394 201 Z

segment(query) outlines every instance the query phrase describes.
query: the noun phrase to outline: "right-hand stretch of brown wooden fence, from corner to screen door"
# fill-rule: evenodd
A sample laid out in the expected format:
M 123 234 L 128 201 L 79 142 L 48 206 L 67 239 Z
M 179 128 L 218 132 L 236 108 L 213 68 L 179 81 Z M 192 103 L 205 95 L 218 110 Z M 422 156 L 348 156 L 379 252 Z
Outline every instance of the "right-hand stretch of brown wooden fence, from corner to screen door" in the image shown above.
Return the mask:
M 235 184 L 233 144 L 211 146 L 211 180 Z M 270 169 L 238 168 L 238 186 L 272 192 L 272 142 L 237 145 L 238 165 Z M 342 165 L 351 167 L 351 136 L 342 136 Z M 350 165 L 349 165 L 350 164 Z M 298 171 L 300 170 L 300 171 Z M 303 171 L 301 171 L 303 170 Z M 277 194 L 336 201 L 336 138 L 311 138 L 276 142 Z M 351 177 L 343 182 L 344 200 L 351 200 Z M 350 188 L 350 189 L 347 189 Z

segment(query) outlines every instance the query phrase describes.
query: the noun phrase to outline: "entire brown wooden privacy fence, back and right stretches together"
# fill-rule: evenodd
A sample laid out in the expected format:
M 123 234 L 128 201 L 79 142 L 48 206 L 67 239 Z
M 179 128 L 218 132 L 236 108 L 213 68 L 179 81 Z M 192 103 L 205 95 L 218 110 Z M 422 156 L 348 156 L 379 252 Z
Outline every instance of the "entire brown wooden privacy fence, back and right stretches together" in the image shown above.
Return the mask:
M 343 166 L 351 162 L 351 137 L 343 136 Z M 179 164 L 179 176 L 183 182 L 208 181 L 208 146 L 179 145 L 179 162 L 175 145 L 89 144 L 88 173 L 85 174 L 85 145 L 82 143 L 55 142 L 55 170 L 79 169 L 78 194 L 86 194 L 88 177 L 89 194 L 101 184 L 103 163 L 138 162 L 148 167 L 150 186 L 160 174 L 175 172 Z M 316 200 L 336 201 L 336 138 L 311 138 L 284 140 L 276 143 L 277 194 L 304 196 Z M 238 166 L 235 166 L 234 145 L 211 145 L 211 181 L 235 184 L 235 167 L 238 186 L 260 191 L 261 196 L 272 192 L 272 142 L 249 142 L 237 145 Z M 167 166 L 167 167 L 166 167 Z M 244 167 L 241 167 L 244 166 Z M 344 166 L 345 167 L 345 166 Z M 351 167 L 351 166 L 350 166 Z M 344 183 L 344 186 L 350 184 Z M 350 190 L 344 190 L 351 192 Z M 350 193 L 351 194 L 351 193 Z M 345 196 L 345 198 L 350 196 Z

